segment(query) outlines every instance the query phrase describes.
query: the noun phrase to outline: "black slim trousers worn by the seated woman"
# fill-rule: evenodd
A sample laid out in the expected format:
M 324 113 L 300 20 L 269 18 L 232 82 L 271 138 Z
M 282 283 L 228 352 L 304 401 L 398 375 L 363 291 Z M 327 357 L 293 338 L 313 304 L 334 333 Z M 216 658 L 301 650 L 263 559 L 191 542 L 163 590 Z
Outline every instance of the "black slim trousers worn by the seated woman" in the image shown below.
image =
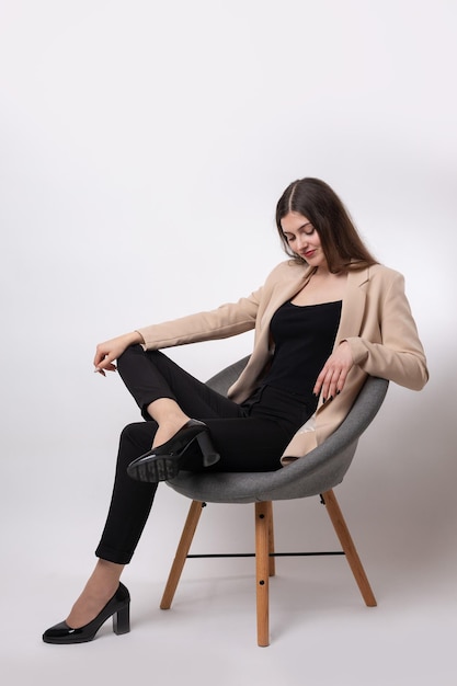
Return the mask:
M 157 483 L 127 476 L 127 466 L 150 449 L 157 423 L 146 408 L 159 398 L 174 399 L 194 419 L 204 421 L 220 460 L 212 471 L 272 471 L 295 432 L 315 411 L 281 390 L 264 386 L 237 404 L 181 369 L 158 351 L 134 345 L 117 361 L 118 373 L 147 420 L 128 424 L 121 434 L 113 496 L 95 554 L 130 561 L 152 505 Z M 195 447 L 194 447 L 195 446 Z M 196 442 L 186 451 L 185 469 L 202 470 Z

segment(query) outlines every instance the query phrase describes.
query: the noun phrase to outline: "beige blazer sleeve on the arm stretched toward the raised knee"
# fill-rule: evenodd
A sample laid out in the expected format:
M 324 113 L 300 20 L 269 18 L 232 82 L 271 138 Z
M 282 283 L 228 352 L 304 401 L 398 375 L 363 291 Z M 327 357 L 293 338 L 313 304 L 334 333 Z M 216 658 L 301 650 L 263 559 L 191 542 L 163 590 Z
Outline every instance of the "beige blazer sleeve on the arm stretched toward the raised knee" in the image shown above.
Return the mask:
M 201 341 L 227 339 L 255 328 L 262 288 L 238 302 L 137 329 L 145 350 L 159 350 Z

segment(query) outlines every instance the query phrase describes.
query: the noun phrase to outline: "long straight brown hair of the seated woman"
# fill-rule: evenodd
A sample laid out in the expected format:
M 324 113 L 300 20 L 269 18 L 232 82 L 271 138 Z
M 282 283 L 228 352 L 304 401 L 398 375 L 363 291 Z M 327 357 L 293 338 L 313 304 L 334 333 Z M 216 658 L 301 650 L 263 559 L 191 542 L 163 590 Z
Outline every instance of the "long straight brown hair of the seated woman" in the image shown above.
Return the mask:
M 330 272 L 359 270 L 377 260 L 365 247 L 349 211 L 336 193 L 320 179 L 300 179 L 290 183 L 276 205 L 276 226 L 285 252 L 296 262 L 306 260 L 297 255 L 284 236 L 281 220 L 289 211 L 306 217 L 319 233 L 323 254 Z

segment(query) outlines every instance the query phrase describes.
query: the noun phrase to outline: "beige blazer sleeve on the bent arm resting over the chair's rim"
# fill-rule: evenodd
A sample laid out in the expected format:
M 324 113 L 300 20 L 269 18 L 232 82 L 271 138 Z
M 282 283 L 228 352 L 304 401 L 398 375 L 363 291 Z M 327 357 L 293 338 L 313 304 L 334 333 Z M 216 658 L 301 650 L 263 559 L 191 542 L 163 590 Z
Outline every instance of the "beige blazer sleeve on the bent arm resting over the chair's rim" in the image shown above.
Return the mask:
M 429 380 L 424 350 L 404 293 L 404 278 L 399 272 L 390 274 L 376 308 L 380 341 L 364 338 L 363 332 L 346 340 L 354 363 L 364 371 L 421 390 Z M 368 307 L 374 309 L 373 304 Z

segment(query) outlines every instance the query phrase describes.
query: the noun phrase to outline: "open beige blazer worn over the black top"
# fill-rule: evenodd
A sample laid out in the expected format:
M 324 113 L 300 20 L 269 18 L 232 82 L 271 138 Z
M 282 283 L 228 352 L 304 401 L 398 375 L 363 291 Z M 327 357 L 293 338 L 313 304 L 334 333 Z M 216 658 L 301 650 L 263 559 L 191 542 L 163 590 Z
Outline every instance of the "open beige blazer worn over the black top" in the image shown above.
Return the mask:
M 288 260 L 247 298 L 197 315 L 138 329 L 146 350 L 225 339 L 255 329 L 250 361 L 229 389 L 236 402 L 261 382 L 273 354 L 270 322 L 277 308 L 309 281 L 313 268 Z M 346 416 L 367 375 L 420 390 L 429 379 L 424 351 L 404 294 L 403 276 L 382 265 L 350 272 L 334 346 L 347 341 L 354 366 L 343 391 L 330 402 L 319 400 L 311 421 L 294 436 L 282 457 L 301 457 L 322 443 Z

